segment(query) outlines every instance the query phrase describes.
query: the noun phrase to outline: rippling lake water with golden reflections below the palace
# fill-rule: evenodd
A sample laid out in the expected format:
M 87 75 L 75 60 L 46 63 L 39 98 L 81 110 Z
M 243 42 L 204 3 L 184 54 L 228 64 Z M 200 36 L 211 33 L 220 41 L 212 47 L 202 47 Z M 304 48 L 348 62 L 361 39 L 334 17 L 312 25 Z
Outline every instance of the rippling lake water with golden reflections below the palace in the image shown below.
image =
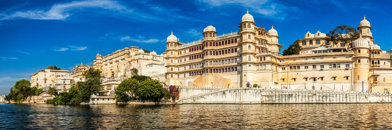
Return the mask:
M 0 129 L 392 130 L 392 104 L 0 104 Z

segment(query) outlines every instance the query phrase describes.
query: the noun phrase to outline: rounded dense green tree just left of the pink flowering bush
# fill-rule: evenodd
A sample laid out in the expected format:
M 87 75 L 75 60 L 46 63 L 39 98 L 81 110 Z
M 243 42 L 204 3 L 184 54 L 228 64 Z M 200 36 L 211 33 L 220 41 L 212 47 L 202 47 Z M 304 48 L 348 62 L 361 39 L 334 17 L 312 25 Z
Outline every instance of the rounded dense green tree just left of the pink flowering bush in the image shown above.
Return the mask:
M 146 80 L 139 83 L 137 96 L 142 100 L 159 100 L 164 96 L 163 86 L 157 80 Z

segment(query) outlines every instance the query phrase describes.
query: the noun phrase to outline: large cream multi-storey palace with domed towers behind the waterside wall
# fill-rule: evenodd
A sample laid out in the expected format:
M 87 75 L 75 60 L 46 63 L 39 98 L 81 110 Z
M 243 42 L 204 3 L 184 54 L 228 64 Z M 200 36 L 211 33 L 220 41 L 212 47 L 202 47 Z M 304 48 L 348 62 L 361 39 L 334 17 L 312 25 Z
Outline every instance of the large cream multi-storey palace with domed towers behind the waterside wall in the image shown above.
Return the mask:
M 238 27 L 238 32 L 216 35 L 210 25 L 203 30 L 203 39 L 187 44 L 172 32 L 165 43 L 166 83 L 358 92 L 374 86 L 372 92 L 380 93 L 392 88 L 391 52 L 374 43 L 365 17 L 352 46 L 329 44 L 325 33 L 307 32 L 294 42 L 302 46 L 300 53 L 288 56 L 279 54 L 274 26 L 268 31 L 256 26 L 247 11 Z

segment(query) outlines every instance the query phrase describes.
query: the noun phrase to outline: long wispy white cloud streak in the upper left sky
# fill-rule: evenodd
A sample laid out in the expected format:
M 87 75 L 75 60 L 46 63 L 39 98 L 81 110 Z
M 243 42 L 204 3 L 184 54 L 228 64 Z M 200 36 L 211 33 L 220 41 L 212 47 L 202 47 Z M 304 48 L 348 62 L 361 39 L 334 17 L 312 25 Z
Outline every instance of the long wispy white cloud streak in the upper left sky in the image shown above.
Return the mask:
M 0 20 L 13 19 L 13 18 L 27 18 L 27 19 L 44 19 L 44 20 L 64 20 L 71 16 L 69 11 L 83 8 L 102 8 L 113 11 L 125 11 L 127 10 L 123 5 L 113 0 L 84 0 L 84 1 L 73 1 L 71 3 L 54 4 L 48 11 L 44 10 L 32 10 L 32 11 L 16 11 L 11 14 L 0 14 Z

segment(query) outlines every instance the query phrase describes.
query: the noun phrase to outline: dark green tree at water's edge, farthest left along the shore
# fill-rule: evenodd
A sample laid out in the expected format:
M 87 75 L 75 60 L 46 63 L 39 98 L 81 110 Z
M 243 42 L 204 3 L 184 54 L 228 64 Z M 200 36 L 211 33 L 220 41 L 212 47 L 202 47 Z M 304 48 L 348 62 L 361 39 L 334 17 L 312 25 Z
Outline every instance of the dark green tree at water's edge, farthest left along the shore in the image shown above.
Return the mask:
M 25 79 L 16 81 L 15 85 L 10 89 L 9 94 L 5 96 L 5 100 L 13 100 L 16 103 L 23 102 L 23 100 L 27 97 L 34 95 L 34 92 L 31 91 L 30 85 L 30 81 Z

